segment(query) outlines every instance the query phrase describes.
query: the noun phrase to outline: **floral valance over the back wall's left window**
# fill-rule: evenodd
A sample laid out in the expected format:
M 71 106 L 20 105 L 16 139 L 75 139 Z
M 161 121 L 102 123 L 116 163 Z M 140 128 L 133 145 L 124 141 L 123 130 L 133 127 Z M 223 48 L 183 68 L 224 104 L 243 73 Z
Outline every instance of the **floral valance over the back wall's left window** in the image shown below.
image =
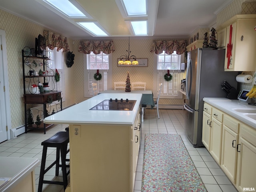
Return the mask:
M 100 54 L 102 51 L 104 54 L 110 54 L 114 52 L 114 42 L 110 41 L 80 41 L 78 51 L 84 54 L 90 54 L 91 51 L 94 54 Z

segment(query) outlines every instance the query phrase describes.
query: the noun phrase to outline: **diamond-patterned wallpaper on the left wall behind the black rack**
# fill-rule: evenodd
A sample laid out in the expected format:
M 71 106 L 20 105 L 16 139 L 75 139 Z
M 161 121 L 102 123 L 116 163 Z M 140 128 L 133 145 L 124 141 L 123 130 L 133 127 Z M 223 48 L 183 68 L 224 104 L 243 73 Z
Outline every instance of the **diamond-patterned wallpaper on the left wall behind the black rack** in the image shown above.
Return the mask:
M 0 10 L 0 28 L 6 32 L 8 81 L 12 128 L 24 125 L 23 76 L 21 51 L 25 46 L 34 48 L 35 37 L 43 34 L 44 27 Z M 69 40 L 72 48 L 72 42 Z M 66 102 L 63 107 L 73 104 L 72 73 L 65 69 Z

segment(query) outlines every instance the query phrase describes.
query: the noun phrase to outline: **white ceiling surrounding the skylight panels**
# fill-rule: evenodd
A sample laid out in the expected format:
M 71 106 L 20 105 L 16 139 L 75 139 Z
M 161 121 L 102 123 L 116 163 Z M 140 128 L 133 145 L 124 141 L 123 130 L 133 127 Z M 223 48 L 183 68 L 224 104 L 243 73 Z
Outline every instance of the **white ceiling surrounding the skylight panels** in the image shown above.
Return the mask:
M 74 1 L 74 0 L 70 0 Z M 122 13 L 120 0 L 76 0 L 110 37 L 133 36 Z M 153 37 L 188 38 L 197 28 L 208 28 L 216 14 L 233 0 L 148 0 L 148 22 Z M 136 7 L 134 7 L 136 8 Z M 45 6 L 42 0 L 0 0 L 0 9 L 40 24 L 72 39 L 93 38 L 74 20 Z M 28 29 L 29 30 L 29 29 Z M 96 38 L 96 37 L 94 37 Z M 109 38 L 109 37 L 108 37 Z

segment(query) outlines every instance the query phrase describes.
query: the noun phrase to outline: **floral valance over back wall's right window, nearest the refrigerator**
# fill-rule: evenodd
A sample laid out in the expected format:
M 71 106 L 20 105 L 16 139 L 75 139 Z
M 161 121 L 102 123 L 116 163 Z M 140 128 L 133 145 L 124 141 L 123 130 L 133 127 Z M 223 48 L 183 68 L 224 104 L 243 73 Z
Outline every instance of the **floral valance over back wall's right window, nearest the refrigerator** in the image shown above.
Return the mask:
M 186 40 L 153 41 L 150 52 L 161 54 L 163 51 L 165 51 L 166 54 L 170 55 L 176 51 L 176 53 L 180 55 L 185 51 L 185 48 Z

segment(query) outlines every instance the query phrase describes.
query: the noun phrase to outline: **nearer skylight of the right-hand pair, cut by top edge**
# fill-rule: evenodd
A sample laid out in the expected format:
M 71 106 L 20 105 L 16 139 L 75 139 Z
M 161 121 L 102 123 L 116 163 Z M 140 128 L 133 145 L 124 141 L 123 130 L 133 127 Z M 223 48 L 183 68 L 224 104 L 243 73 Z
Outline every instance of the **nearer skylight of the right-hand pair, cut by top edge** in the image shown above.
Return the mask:
M 122 0 L 127 16 L 146 16 L 146 0 Z

